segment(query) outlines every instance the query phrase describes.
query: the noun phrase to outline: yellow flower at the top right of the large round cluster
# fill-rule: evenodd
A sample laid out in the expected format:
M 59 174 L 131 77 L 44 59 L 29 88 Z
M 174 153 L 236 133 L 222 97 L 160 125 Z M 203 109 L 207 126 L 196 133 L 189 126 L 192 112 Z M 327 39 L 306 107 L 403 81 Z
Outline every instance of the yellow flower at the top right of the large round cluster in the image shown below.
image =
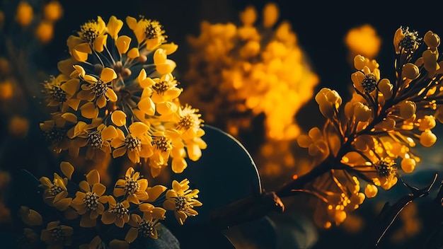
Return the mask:
M 163 35 L 165 31 L 162 30 L 162 26 L 158 21 L 144 17 L 137 21 L 137 19 L 127 16 L 126 23 L 134 31 L 139 47 L 146 45 L 146 50 L 153 50 L 166 39 L 166 35 Z

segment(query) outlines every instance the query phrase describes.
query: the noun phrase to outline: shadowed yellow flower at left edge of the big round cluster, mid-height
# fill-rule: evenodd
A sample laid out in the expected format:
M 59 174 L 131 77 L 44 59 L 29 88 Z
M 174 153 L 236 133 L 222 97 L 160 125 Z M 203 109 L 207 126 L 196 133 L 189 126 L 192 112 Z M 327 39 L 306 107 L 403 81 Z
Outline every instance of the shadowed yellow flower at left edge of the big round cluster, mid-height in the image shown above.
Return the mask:
M 50 81 L 43 84 L 47 94 L 47 105 L 58 106 L 61 112 L 67 112 L 68 108 L 77 110 L 80 100 L 73 98 L 80 86 L 79 79 L 69 79 L 64 74 L 51 77 Z

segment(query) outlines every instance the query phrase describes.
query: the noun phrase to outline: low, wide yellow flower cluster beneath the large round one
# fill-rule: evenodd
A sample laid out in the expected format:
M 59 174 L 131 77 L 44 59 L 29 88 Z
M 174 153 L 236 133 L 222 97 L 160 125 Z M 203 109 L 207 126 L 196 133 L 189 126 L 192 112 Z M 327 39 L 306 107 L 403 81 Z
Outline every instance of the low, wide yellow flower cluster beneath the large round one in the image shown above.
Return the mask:
M 37 248 L 129 248 L 137 238 L 159 237 L 160 221 L 166 210 L 183 224 L 193 209 L 202 205 L 195 199 L 198 190 L 189 189 L 187 179 L 173 181 L 166 192 L 163 185 L 149 186 L 148 180 L 130 167 L 109 191 L 100 183 L 100 174 L 91 170 L 78 185 L 72 184 L 74 166 L 60 163 L 61 174 L 51 180 L 40 178 L 42 198 L 52 212 L 22 206 L 19 215 L 26 225 L 21 245 Z M 166 195 L 164 194 L 166 192 Z M 40 214 L 41 213 L 41 214 Z M 118 228 L 118 229 L 116 229 Z M 40 238 L 40 239 L 38 239 Z M 75 240 L 73 240 L 75 238 Z

